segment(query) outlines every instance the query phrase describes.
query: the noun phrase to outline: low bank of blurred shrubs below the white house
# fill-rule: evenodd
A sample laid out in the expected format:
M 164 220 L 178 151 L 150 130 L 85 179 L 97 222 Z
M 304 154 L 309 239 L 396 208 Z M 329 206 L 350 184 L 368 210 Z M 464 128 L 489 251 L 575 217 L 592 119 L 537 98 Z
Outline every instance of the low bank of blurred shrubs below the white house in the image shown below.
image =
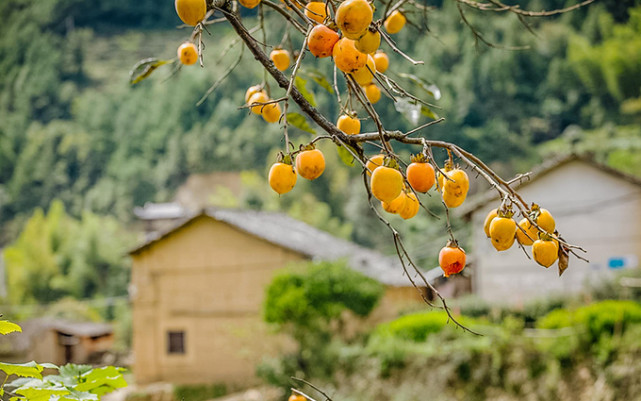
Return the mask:
M 601 309 L 604 315 L 606 309 L 630 308 L 618 305 L 606 308 L 595 303 L 585 308 Z M 634 399 L 641 389 L 639 322 L 629 320 L 623 331 L 604 330 L 593 347 L 585 347 L 577 332 L 526 330 L 518 310 L 505 315 L 495 326 L 479 326 L 483 336 L 462 333 L 451 325 L 441 327 L 436 317 L 423 318 L 433 324 L 420 341 L 402 332 L 381 335 L 389 332 L 390 325 L 383 324 L 367 341 L 343 345 L 334 354 L 340 363 L 331 376 L 307 380 L 331 388 L 334 399 L 376 401 L 420 399 L 426 392 L 439 401 L 565 400 L 596 393 Z M 420 318 L 402 319 L 410 332 L 421 325 Z M 411 325 L 413 321 L 417 324 Z

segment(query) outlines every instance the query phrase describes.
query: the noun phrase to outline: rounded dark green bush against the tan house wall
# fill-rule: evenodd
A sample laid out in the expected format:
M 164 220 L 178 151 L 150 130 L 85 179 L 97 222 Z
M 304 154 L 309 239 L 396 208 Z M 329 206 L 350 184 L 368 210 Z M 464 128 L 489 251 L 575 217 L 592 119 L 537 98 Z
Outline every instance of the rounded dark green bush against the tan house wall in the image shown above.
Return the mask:
M 263 303 L 265 321 L 276 323 L 298 349 L 257 368 L 271 384 L 288 388 L 293 375 L 331 375 L 343 345 L 342 329 L 366 317 L 383 295 L 383 286 L 343 262 L 292 266 L 274 277 Z M 346 312 L 351 312 L 350 318 Z M 349 315 L 349 314 L 348 314 Z

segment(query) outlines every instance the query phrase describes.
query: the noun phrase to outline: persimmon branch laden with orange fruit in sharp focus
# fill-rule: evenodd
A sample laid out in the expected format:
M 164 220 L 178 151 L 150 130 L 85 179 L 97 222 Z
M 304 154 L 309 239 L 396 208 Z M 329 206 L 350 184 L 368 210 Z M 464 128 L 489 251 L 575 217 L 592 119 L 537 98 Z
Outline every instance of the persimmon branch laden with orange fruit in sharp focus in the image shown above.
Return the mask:
M 583 1 L 565 9 L 533 12 L 520 9 L 518 6 L 509 6 L 498 0 L 455 1 L 461 20 L 468 25 L 477 41 L 494 46 L 488 42 L 467 20 L 463 7 L 482 12 L 510 12 L 516 15 L 521 23 L 531 29 L 525 20 L 526 17 L 545 17 L 558 13 L 572 11 L 591 3 L 593 0 Z M 517 193 L 512 185 L 520 182 L 527 174 L 518 175 L 512 180 L 505 180 L 496 174 L 487 164 L 471 152 L 456 144 L 431 140 L 427 135 L 419 133 L 440 122 L 443 118 L 436 118 L 429 112 L 432 104 L 420 96 L 403 87 L 399 82 L 386 74 L 389 58 L 379 47 L 384 42 L 389 48 L 401 55 L 409 64 L 423 64 L 406 54 L 393 40 L 393 35 L 404 29 L 407 25 L 416 27 L 416 21 L 411 21 L 413 15 L 422 18 L 429 12 L 430 7 L 417 3 L 415 0 L 382 1 L 382 0 L 326 0 L 324 2 L 307 0 L 281 0 L 279 4 L 270 0 L 175 0 L 175 7 L 181 20 L 193 27 L 189 39 L 178 49 L 178 66 L 195 64 L 200 61 L 203 65 L 203 32 L 208 32 L 207 27 L 214 23 L 227 22 L 237 35 L 228 49 L 237 43 L 242 43 L 252 56 L 259 62 L 265 76 L 263 82 L 250 87 L 245 95 L 245 105 L 241 109 L 249 108 L 254 114 L 261 115 L 267 123 L 279 123 L 283 128 L 284 149 L 278 155 L 269 173 L 269 183 L 272 189 L 279 194 L 289 192 L 296 184 L 297 175 L 313 180 L 320 176 L 325 168 L 325 161 L 320 150 L 315 149 L 318 141 L 332 141 L 341 152 L 358 161 L 362 168 L 364 189 L 368 194 L 370 208 L 385 224 L 393 235 L 394 245 L 404 269 L 405 275 L 411 283 L 418 288 L 417 280 L 425 287 L 430 288 L 441 301 L 442 307 L 448 316 L 458 326 L 465 330 L 451 314 L 445 299 L 426 279 L 423 272 L 414 263 L 412 257 L 403 245 L 402 238 L 394 226 L 380 211 L 378 202 L 387 213 L 398 214 L 404 219 L 414 217 L 421 208 L 431 212 L 421 201 L 421 194 L 427 193 L 432 188 L 440 193 L 445 216 L 449 241 L 439 254 L 439 265 L 445 276 L 457 274 L 463 270 L 466 255 L 457 242 L 449 223 L 449 209 L 459 207 L 466 199 L 469 189 L 467 173 L 456 164 L 464 167 L 487 181 L 498 192 L 500 205 L 488 215 L 485 223 L 485 232 L 491 239 L 497 251 L 504 251 L 513 246 L 514 242 L 526 253 L 526 246 L 532 246 L 533 258 L 539 264 L 549 267 L 558 260 L 559 274 L 568 266 L 569 254 L 574 254 L 583 259 L 577 252 L 585 252 L 582 248 L 566 242 L 555 227 L 554 218 L 545 209 L 536 204 L 529 204 Z M 241 21 L 239 7 L 258 7 L 258 26 L 248 29 Z M 378 19 L 375 18 L 377 12 Z M 287 26 L 282 41 L 278 45 L 268 45 L 265 12 L 273 11 L 274 16 L 280 18 Z M 214 18 L 215 17 L 215 18 Z M 257 38 L 257 33 L 262 37 Z M 256 35 L 256 36 L 255 36 Z M 292 45 L 293 35 L 300 35 L 301 45 L 294 50 Z M 293 54 L 284 49 L 284 44 L 289 43 Z M 267 53 L 267 48 L 273 51 Z M 317 107 L 309 101 L 309 96 L 304 85 L 297 83 L 297 75 L 303 63 L 311 56 L 317 59 L 331 56 L 333 65 L 333 83 L 325 82 L 330 92 L 336 94 L 341 115 L 334 124 Z M 243 53 L 232 63 L 212 87 L 206 91 L 199 104 L 211 94 L 229 74 L 240 64 Z M 293 66 L 292 64 L 293 62 Z M 135 84 L 149 76 L 157 67 L 167 61 L 147 59 L 138 63 L 131 74 L 131 82 Z M 291 71 L 288 75 L 286 71 Z M 342 79 L 339 79 L 342 77 Z M 270 83 L 275 82 L 284 94 L 275 99 L 271 98 Z M 382 91 L 381 91 L 382 89 Z M 431 115 L 432 120 L 419 125 L 407 132 L 389 130 L 380 118 L 375 104 L 382 93 L 385 93 L 394 102 L 406 102 L 412 107 L 424 108 Z M 318 135 L 309 144 L 300 144 L 297 147 L 290 142 L 288 127 L 304 125 L 301 119 L 305 117 L 296 113 L 289 113 L 291 102 L 295 103 L 307 118 L 314 121 L 324 132 Z M 281 107 L 282 105 L 282 107 Z M 374 132 L 361 132 L 361 123 L 357 116 L 357 108 L 367 115 L 376 130 Z M 306 123 L 305 123 L 306 124 Z M 414 145 L 416 154 L 409 161 L 403 160 L 394 151 L 394 144 Z M 381 153 L 369 157 L 365 155 L 363 145 L 373 145 Z M 434 149 L 447 152 L 448 158 L 443 166 L 437 165 L 434 158 Z M 349 157 L 348 156 L 348 157 Z M 294 167 L 296 166 L 296 167 Z M 521 216 L 522 220 L 514 220 Z M 423 295 L 423 294 L 422 294 Z M 432 305 L 431 301 L 423 295 L 423 299 Z

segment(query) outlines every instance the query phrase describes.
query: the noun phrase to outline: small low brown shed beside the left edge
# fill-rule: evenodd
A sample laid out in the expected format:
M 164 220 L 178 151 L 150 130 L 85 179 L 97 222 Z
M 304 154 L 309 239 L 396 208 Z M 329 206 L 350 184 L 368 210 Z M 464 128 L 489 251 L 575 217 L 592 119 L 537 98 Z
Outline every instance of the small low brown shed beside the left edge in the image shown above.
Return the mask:
M 19 323 L 22 332 L 0 338 L 0 357 L 7 362 L 99 364 L 112 349 L 111 325 L 36 318 Z

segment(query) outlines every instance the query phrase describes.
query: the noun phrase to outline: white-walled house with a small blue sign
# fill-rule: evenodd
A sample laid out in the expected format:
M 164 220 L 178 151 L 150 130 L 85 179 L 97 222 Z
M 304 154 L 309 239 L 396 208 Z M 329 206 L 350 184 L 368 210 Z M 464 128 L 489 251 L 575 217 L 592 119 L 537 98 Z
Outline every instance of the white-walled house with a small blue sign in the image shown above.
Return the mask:
M 518 306 L 537 298 L 577 293 L 621 269 L 638 267 L 640 179 L 571 155 L 550 160 L 514 187 L 527 202 L 552 213 L 561 236 L 586 249 L 589 263 L 571 256 L 569 269 L 559 277 L 556 265 L 545 269 L 516 245 L 497 252 L 483 232 L 486 215 L 499 206 L 497 191 L 488 191 L 462 211 L 474 230 L 472 288 L 482 299 Z

